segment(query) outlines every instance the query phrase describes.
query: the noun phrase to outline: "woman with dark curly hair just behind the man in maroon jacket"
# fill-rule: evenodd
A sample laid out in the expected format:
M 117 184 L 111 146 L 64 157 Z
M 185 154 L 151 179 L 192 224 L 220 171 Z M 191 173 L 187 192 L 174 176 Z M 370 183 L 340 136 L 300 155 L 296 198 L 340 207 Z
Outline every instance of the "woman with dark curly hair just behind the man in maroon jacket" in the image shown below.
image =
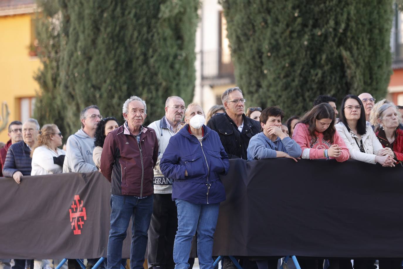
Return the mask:
M 106 117 L 102 119 L 95 130 L 95 148 L 92 151 L 92 160 L 94 161 L 96 167 L 100 167 L 101 164 L 101 154 L 102 148 L 104 146 L 104 141 L 108 133 L 118 128 L 119 125 L 114 117 Z

